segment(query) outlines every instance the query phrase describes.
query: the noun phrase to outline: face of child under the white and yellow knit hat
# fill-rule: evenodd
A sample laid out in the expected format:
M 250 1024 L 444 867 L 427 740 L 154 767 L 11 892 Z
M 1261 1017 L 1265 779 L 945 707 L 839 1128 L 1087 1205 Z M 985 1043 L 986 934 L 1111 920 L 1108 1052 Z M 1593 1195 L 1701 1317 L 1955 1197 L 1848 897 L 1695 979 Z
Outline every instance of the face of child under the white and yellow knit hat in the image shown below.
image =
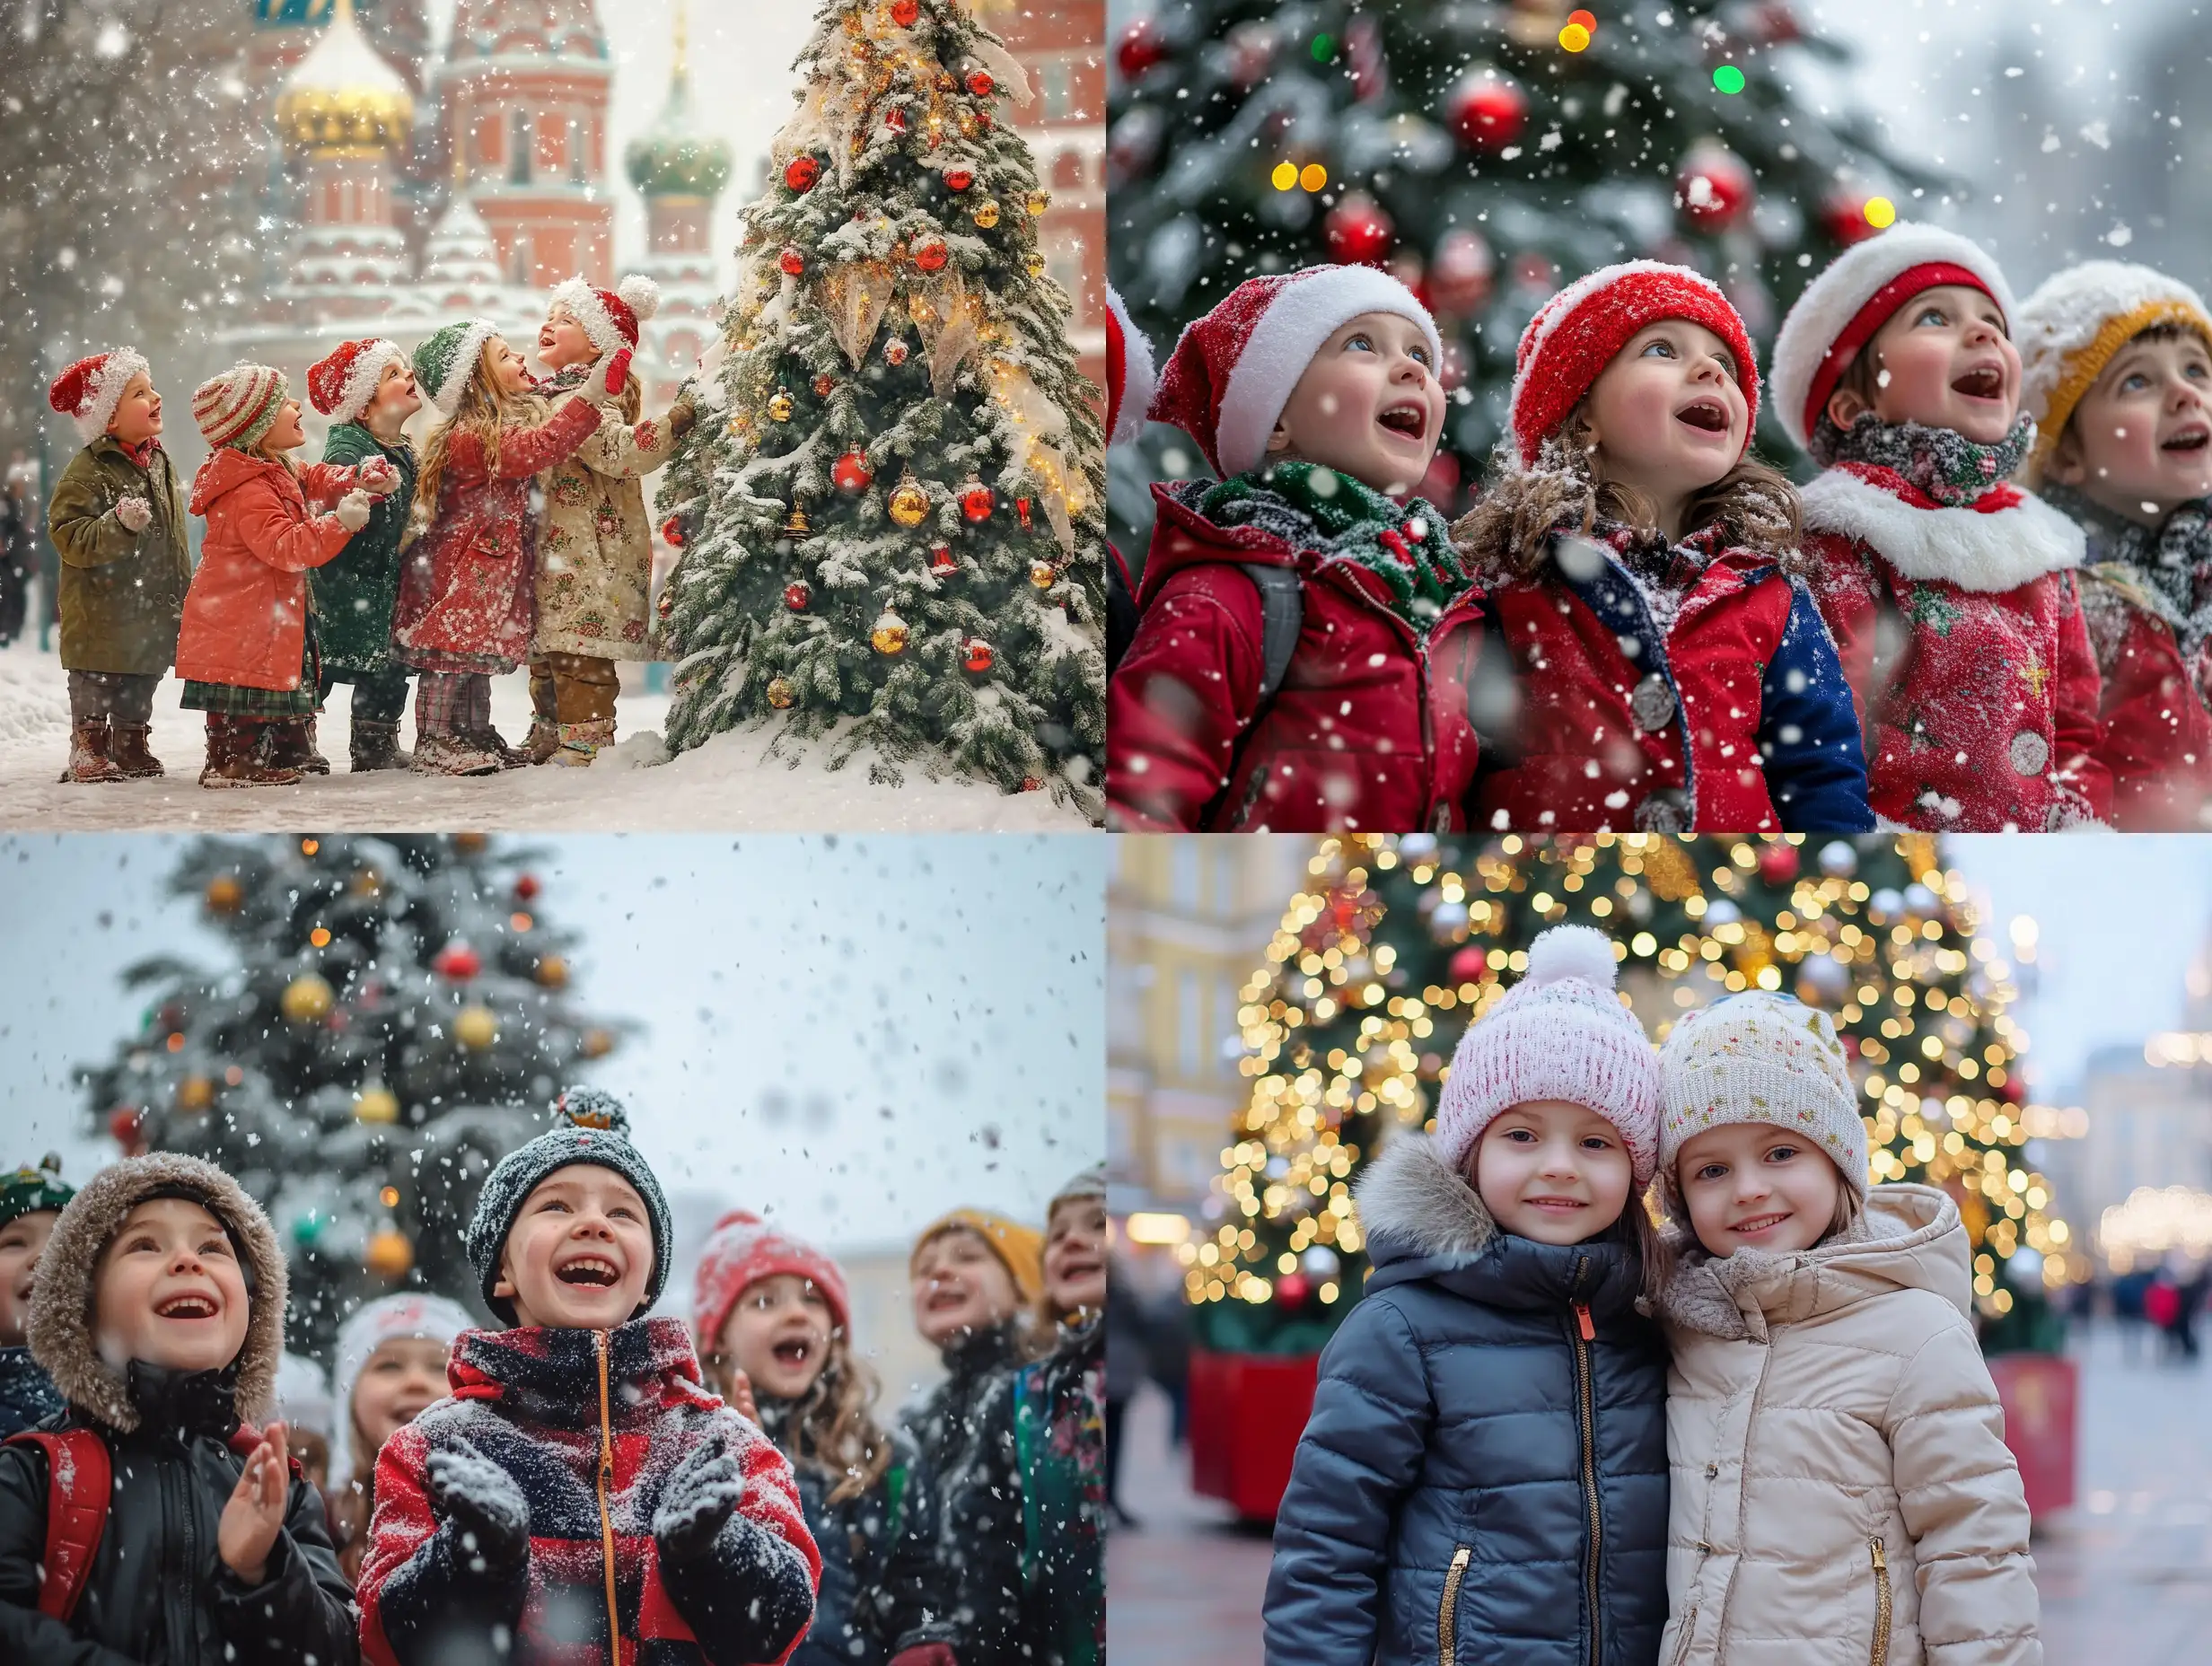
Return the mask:
M 2137 336 L 2075 405 L 2051 478 L 2146 527 L 2212 496 L 2212 347 L 2194 330 Z

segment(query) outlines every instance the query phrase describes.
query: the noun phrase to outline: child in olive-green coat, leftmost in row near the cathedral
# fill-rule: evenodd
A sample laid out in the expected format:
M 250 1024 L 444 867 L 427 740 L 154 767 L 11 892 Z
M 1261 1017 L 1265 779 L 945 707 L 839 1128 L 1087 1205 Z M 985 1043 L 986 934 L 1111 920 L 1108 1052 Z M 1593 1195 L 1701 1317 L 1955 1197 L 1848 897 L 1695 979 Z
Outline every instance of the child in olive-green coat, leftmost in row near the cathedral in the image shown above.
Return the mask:
M 161 396 L 146 361 L 117 347 L 64 369 L 46 403 L 84 442 L 46 502 L 46 538 L 62 558 L 69 673 L 62 779 L 155 777 L 153 693 L 177 657 L 177 619 L 192 582 L 184 496 L 161 449 Z

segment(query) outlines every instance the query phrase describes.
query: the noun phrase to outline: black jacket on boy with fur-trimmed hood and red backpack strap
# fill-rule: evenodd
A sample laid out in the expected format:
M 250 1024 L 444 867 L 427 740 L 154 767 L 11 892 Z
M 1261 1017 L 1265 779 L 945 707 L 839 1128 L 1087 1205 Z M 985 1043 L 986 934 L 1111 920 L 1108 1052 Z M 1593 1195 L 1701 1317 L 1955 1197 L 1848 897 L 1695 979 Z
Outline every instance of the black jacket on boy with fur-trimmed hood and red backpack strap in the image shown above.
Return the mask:
M 77 1611 L 38 1613 L 46 1553 L 46 1454 L 0 1447 L 0 1659 L 38 1666 L 354 1666 L 354 1604 L 338 1573 L 323 1500 L 292 1482 L 268 1575 L 243 1586 L 215 1529 L 243 1460 L 228 1436 L 232 1372 L 177 1374 L 133 1363 L 139 1427 L 104 1429 L 71 1409 L 46 1429 L 95 1429 L 115 1493 Z

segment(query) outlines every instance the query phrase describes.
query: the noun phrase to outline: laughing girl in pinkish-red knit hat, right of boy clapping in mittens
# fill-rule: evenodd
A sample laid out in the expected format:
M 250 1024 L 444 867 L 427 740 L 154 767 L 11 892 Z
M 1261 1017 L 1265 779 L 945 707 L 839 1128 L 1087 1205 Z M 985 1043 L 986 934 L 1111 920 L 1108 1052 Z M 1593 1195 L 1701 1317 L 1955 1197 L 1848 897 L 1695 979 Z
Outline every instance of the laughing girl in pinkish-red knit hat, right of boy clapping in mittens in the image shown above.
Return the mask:
M 708 1387 L 732 1403 L 743 1387 L 799 1476 L 823 1578 L 794 1666 L 876 1666 L 878 1589 L 907 1465 L 869 1412 L 876 1374 L 852 1350 L 845 1272 L 812 1243 L 732 1210 L 699 1250 L 692 1336 Z

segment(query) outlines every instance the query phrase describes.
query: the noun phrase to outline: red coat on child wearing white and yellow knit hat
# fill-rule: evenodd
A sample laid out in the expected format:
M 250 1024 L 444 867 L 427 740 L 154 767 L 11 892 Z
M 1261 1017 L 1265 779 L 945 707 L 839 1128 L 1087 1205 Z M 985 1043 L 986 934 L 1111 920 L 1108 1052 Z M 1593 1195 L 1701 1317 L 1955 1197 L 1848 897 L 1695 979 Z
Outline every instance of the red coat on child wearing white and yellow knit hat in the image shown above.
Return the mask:
M 2112 825 L 2203 832 L 2212 812 L 2212 712 L 2199 664 L 2181 657 L 2172 606 L 2126 562 L 2081 569 L 2081 613 L 2104 673 L 2104 746 Z

